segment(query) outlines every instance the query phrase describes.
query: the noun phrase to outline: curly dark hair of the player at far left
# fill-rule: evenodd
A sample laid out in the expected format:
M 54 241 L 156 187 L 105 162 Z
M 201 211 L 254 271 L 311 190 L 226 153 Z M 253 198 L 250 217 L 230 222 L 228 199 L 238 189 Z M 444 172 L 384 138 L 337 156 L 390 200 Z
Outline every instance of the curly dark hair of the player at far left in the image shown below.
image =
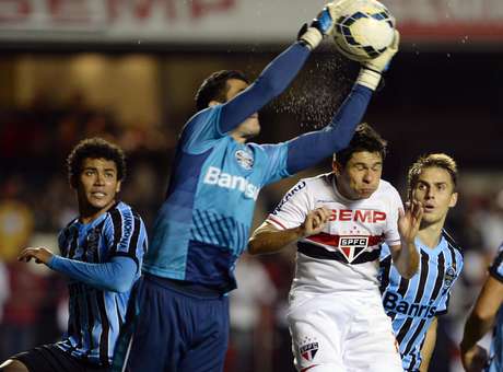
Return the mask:
M 117 167 L 117 179 L 126 177 L 126 155 L 118 146 L 103 138 L 87 138 L 80 141 L 67 158 L 68 178 L 72 186 L 82 172 L 84 159 L 105 159 L 113 161 Z

